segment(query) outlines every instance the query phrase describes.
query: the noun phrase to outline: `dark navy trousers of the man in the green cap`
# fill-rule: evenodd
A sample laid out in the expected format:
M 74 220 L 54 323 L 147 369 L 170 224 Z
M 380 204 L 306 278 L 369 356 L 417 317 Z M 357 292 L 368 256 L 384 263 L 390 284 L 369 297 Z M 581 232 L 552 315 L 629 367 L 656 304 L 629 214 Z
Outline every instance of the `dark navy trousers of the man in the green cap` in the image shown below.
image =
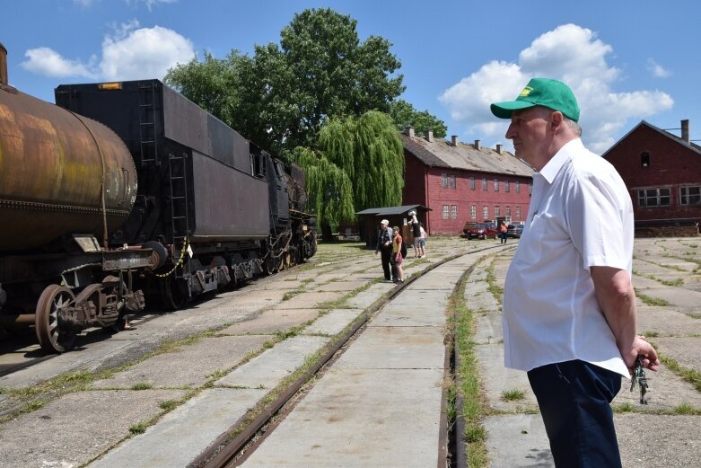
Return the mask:
M 621 375 L 581 360 L 528 373 L 557 467 L 621 466 L 610 402 Z

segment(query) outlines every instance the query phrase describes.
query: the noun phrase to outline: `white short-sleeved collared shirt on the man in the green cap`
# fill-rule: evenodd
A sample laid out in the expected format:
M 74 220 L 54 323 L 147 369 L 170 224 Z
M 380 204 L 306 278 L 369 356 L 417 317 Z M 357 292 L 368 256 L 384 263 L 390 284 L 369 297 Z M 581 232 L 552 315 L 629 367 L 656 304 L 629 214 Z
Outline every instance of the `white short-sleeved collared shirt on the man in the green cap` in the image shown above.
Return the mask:
M 528 219 L 504 284 L 504 364 L 582 359 L 628 377 L 590 267 L 632 272 L 633 206 L 613 166 L 576 139 L 533 174 Z

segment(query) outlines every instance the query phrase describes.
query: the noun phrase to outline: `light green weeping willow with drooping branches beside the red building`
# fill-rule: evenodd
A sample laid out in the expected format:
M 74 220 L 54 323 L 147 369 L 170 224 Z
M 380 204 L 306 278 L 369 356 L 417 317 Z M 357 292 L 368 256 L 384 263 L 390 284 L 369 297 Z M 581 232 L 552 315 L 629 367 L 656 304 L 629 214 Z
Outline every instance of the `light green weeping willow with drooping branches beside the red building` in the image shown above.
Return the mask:
M 404 148 L 387 114 L 370 110 L 327 119 L 317 148 L 295 148 L 295 160 L 307 173 L 311 207 L 325 238 L 355 211 L 401 203 Z

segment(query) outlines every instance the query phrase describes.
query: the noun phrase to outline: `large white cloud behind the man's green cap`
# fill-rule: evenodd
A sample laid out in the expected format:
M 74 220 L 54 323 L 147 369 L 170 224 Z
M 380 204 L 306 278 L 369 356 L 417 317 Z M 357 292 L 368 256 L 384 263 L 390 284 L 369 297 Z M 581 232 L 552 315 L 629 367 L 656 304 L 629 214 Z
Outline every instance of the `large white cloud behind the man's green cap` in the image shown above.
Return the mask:
M 508 124 L 495 119 L 489 104 L 512 101 L 532 77 L 556 78 L 569 84 L 577 96 L 584 143 L 602 153 L 616 142 L 628 119 L 669 110 L 674 103 L 662 91 L 615 93 L 612 84 L 620 71 L 606 62 L 612 51 L 593 31 L 565 24 L 533 40 L 516 63 L 493 61 L 481 66 L 448 88 L 439 100 L 452 119 L 465 125 L 466 133 L 479 132 L 485 142 L 489 138 L 504 142 Z

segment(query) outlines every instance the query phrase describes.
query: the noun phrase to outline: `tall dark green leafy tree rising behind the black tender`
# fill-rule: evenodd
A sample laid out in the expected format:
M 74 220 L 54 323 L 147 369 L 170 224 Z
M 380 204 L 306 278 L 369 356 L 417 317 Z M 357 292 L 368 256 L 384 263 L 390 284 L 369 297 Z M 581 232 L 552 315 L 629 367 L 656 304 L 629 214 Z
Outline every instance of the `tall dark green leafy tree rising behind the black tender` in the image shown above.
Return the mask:
M 329 117 L 389 112 L 404 92 L 390 42 L 361 42 L 356 23 L 329 8 L 304 10 L 279 46 L 257 45 L 253 57 L 234 50 L 219 63 L 205 54 L 171 69 L 165 82 L 274 154 L 313 146 Z

